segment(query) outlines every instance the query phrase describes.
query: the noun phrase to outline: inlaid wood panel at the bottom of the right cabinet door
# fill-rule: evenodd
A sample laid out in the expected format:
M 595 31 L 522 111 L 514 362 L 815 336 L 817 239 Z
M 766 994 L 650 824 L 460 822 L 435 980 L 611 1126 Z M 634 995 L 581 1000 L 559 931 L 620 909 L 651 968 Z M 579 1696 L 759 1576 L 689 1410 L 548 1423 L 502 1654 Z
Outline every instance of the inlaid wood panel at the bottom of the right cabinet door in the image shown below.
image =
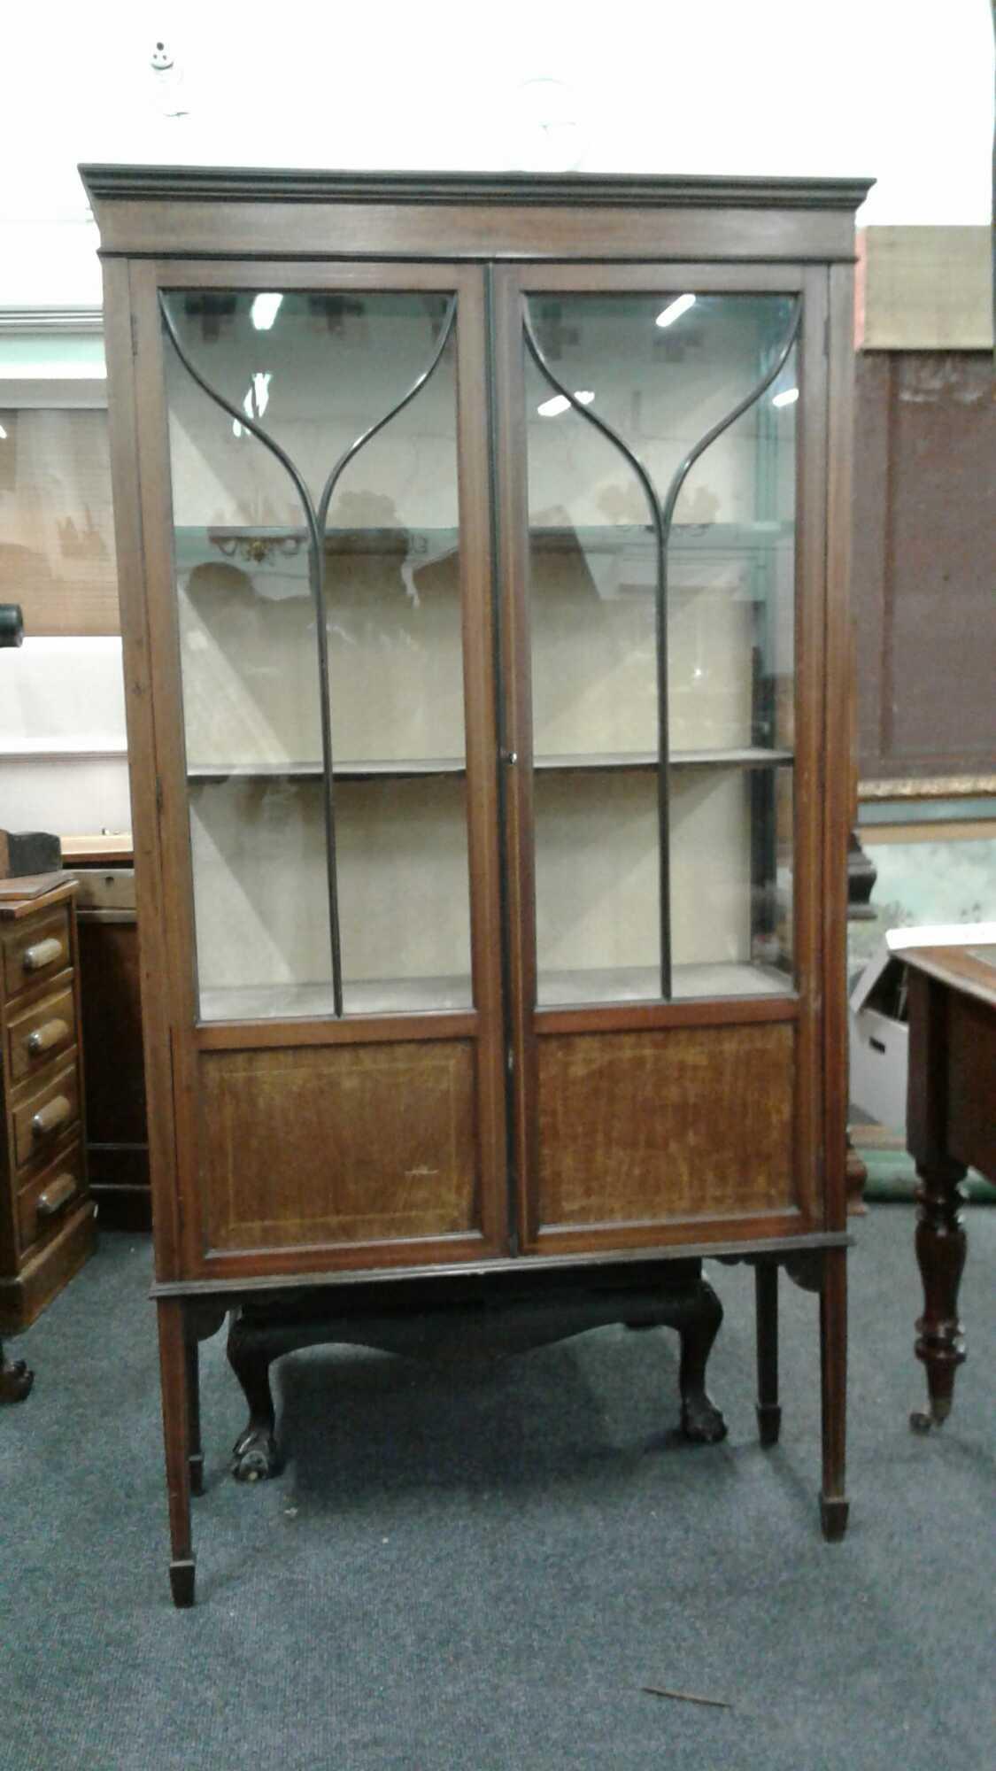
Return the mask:
M 537 1043 L 541 1224 L 652 1224 L 796 1204 L 792 1027 Z

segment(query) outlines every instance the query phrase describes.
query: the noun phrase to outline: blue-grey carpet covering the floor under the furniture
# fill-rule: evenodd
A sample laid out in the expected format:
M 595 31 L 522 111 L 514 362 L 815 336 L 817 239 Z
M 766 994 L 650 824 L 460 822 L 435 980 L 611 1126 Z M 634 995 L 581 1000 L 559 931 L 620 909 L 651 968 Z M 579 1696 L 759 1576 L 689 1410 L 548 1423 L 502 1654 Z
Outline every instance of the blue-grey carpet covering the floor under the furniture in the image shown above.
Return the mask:
M 817 1300 L 782 1286 L 764 1452 L 753 1280 L 711 1268 L 714 1449 L 675 1438 L 668 1330 L 455 1380 L 315 1348 L 278 1367 L 287 1470 L 237 1488 L 209 1342 L 193 1612 L 168 1599 L 149 1245 L 105 1236 L 11 1344 L 35 1390 L 0 1413 L 2 1771 L 987 1771 L 996 1213 L 969 1213 L 969 1360 L 927 1438 L 913 1211 L 856 1234 L 844 1544 L 817 1520 Z

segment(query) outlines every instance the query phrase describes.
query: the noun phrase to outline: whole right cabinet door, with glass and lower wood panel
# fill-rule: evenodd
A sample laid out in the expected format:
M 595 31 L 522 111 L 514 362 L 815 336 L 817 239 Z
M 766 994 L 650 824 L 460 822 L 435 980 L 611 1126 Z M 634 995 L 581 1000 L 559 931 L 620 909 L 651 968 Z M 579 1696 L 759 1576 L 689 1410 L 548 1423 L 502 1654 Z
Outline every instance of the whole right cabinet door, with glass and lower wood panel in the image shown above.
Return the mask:
M 502 280 L 530 1249 L 817 1213 L 824 312 L 785 267 Z

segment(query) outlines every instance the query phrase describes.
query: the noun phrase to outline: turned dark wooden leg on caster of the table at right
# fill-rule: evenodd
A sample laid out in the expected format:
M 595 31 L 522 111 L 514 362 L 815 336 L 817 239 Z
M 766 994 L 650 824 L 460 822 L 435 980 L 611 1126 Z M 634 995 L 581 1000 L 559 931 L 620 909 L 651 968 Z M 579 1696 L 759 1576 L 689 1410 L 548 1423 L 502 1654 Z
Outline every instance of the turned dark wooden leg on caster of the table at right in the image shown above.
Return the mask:
M 916 1323 L 916 1358 L 927 1367 L 930 1413 L 911 1415 L 911 1426 L 927 1431 L 943 1426 L 952 1411 L 955 1371 L 964 1360 L 964 1335 L 959 1321 L 959 1286 L 964 1270 L 966 1234 L 962 1227 L 966 1169 L 961 1162 L 938 1158 L 918 1164 L 916 1188 L 916 1261 L 923 1280 L 923 1316 Z

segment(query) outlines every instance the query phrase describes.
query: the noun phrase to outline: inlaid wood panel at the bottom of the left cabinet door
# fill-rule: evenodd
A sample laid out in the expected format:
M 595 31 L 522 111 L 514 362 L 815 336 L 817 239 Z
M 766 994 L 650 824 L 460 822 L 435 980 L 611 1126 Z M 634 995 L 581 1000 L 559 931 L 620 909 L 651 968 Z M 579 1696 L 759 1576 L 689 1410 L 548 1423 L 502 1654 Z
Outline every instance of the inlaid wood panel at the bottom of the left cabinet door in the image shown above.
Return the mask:
M 479 1227 L 471 1041 L 206 1052 L 200 1075 L 211 1249 Z

